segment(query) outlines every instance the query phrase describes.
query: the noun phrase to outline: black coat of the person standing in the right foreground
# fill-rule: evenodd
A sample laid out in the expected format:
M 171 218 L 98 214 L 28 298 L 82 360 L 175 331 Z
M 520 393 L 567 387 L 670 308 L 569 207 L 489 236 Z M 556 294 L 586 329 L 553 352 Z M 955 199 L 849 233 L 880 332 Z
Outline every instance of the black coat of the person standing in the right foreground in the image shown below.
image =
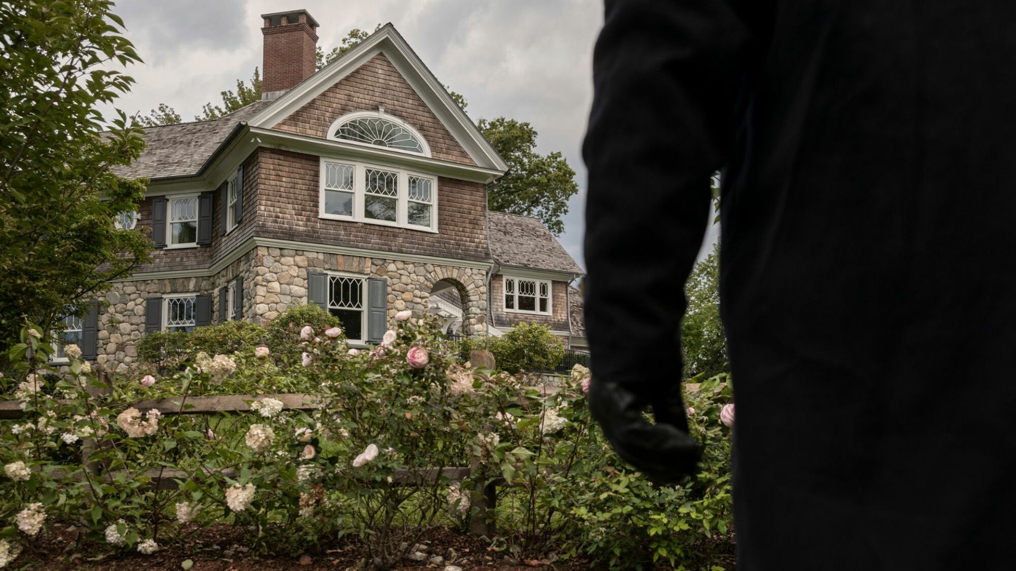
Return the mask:
M 594 378 L 672 383 L 724 169 L 740 571 L 1016 569 L 1016 2 L 609 0 Z

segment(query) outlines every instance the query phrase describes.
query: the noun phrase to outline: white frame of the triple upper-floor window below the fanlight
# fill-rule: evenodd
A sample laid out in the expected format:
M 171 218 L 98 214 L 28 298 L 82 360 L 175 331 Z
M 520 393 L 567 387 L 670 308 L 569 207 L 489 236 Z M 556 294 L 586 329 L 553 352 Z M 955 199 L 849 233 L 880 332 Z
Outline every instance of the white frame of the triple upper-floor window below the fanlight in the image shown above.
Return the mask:
M 325 187 L 327 181 L 327 170 L 329 164 L 342 165 L 346 167 L 353 167 L 353 215 L 343 214 L 329 214 L 325 212 L 325 191 L 326 190 L 336 190 L 328 189 Z M 389 173 L 395 173 L 398 176 L 398 193 L 395 196 L 397 199 L 395 221 L 388 220 L 378 220 L 374 218 L 368 218 L 365 215 L 366 208 L 366 188 L 367 188 L 367 171 L 377 170 L 386 171 Z M 429 179 L 431 181 L 431 225 L 429 227 L 417 226 L 409 224 L 409 177 L 417 177 L 421 179 Z M 438 177 L 428 173 L 400 169 L 398 167 L 392 167 L 389 165 L 383 165 L 378 163 L 365 163 L 362 161 L 347 161 L 344 158 L 335 158 L 330 156 L 322 156 L 320 160 L 320 171 L 319 171 L 319 182 L 318 182 L 318 217 L 332 220 L 346 220 L 346 221 L 357 221 L 369 225 L 386 226 L 401 228 L 405 230 L 416 230 L 419 232 L 429 232 L 432 234 L 438 233 Z M 347 191 L 346 191 L 347 192 Z M 417 201 L 414 201 L 417 202 Z

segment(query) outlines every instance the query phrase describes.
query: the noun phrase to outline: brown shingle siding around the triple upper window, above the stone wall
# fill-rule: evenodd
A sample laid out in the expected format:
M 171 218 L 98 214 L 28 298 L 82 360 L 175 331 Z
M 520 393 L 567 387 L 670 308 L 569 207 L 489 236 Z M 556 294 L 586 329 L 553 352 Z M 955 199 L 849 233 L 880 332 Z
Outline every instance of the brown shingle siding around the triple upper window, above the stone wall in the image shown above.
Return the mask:
M 439 177 L 438 234 L 432 234 L 319 218 L 317 156 L 262 148 L 259 163 L 257 236 L 463 260 L 490 259 L 483 183 Z

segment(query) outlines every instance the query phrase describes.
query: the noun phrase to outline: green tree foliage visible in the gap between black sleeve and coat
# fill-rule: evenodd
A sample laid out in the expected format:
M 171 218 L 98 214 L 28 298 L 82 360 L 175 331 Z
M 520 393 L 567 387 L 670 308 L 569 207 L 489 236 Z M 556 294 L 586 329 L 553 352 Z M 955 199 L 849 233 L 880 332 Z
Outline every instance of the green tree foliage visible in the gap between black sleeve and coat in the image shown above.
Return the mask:
M 681 322 L 685 378 L 712 377 L 727 371 L 726 338 L 719 320 L 719 243 L 685 283 L 688 307 Z

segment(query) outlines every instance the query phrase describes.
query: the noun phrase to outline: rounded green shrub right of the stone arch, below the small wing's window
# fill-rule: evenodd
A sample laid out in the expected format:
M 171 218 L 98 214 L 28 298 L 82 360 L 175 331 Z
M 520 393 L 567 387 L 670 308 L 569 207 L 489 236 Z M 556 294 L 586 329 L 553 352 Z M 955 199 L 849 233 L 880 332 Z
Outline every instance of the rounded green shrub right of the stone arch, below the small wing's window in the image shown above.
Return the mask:
M 565 356 L 561 338 L 536 323 L 519 323 L 500 337 L 486 339 L 498 368 L 509 373 L 553 371 Z M 481 340 L 473 342 L 483 344 Z

